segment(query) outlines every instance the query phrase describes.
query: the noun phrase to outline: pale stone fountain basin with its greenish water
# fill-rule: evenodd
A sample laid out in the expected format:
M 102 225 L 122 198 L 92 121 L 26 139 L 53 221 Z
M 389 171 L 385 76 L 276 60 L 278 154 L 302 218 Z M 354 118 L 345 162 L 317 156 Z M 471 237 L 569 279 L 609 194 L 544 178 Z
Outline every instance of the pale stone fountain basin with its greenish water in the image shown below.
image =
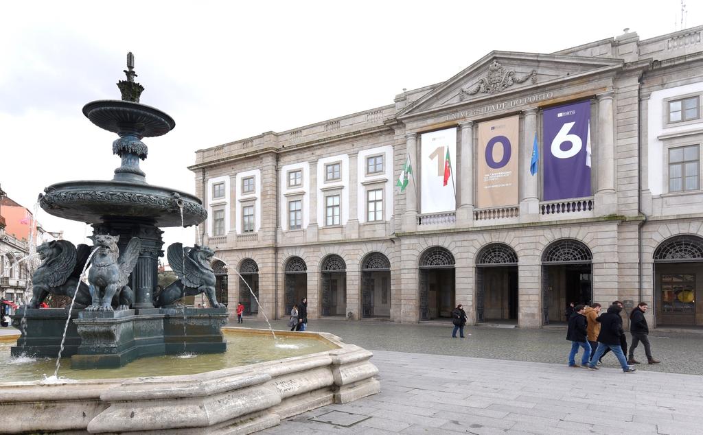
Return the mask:
M 223 332 L 227 353 L 141 358 L 114 370 L 62 370 L 69 379 L 51 382 L 23 379 L 51 374 L 53 361 L 17 361 L 23 374 L 13 380 L 8 370 L 14 367 L 2 358 L 9 358 L 17 336 L 0 337 L 3 379 L 11 380 L 0 383 L 1 430 L 250 434 L 380 391 L 372 353 L 335 335 L 277 331 L 274 341 L 268 330 Z M 170 376 L 156 375 L 163 373 Z

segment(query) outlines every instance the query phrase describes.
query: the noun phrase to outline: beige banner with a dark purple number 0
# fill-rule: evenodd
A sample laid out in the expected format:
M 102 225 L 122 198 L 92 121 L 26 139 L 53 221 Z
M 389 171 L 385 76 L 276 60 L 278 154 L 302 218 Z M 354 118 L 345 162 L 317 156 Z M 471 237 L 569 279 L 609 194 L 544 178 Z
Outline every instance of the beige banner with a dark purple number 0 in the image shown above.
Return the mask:
M 479 124 L 477 207 L 517 205 L 519 129 L 520 117 L 517 116 Z

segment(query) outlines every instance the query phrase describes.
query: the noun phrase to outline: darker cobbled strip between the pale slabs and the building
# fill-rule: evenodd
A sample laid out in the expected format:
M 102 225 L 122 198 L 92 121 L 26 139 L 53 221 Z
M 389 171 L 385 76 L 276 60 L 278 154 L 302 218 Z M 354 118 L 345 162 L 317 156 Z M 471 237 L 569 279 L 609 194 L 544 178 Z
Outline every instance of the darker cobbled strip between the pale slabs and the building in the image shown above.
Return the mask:
M 286 320 L 273 320 L 274 329 L 285 327 Z M 228 326 L 239 326 L 237 319 Z M 265 322 L 245 319 L 245 327 L 267 328 Z M 331 332 L 344 342 L 371 351 L 403 351 L 437 355 L 472 356 L 510 361 L 566 364 L 571 343 L 564 330 L 521 330 L 503 327 L 465 327 L 466 339 L 452 339 L 451 322 L 399 324 L 387 321 L 311 320 L 309 330 Z M 628 334 L 628 343 L 631 337 Z M 703 375 L 703 334 L 697 332 L 656 332 L 650 334 L 652 353 L 661 364 L 640 364 L 638 370 Z M 579 353 L 580 358 L 580 353 Z M 635 350 L 638 361 L 646 361 L 640 344 Z M 579 360 L 580 361 L 580 360 Z M 618 368 L 612 354 L 603 358 L 605 367 Z M 703 431 L 702 431 L 703 433 Z

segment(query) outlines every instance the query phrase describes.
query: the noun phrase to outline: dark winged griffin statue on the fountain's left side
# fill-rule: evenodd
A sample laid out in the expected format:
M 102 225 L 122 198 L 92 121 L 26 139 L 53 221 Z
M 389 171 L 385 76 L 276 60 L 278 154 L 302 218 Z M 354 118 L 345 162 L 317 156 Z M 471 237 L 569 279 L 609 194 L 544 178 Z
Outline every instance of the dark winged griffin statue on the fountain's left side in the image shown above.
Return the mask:
M 39 308 L 49 294 L 58 294 L 73 299 L 76 308 L 84 308 L 91 302 L 88 286 L 80 280 L 81 273 L 90 257 L 91 247 L 78 245 L 68 240 L 44 242 L 37 247 L 42 263 L 32 275 L 32 300 L 29 308 Z M 78 291 L 76 291 L 78 290 Z

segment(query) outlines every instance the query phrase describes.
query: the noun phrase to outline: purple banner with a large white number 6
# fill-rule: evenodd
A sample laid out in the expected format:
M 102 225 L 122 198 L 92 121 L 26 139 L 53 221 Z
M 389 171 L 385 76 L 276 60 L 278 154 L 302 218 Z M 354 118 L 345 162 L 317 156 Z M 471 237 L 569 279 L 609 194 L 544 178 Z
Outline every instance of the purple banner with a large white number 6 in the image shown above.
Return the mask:
M 545 201 L 591 196 L 591 103 L 544 110 Z

